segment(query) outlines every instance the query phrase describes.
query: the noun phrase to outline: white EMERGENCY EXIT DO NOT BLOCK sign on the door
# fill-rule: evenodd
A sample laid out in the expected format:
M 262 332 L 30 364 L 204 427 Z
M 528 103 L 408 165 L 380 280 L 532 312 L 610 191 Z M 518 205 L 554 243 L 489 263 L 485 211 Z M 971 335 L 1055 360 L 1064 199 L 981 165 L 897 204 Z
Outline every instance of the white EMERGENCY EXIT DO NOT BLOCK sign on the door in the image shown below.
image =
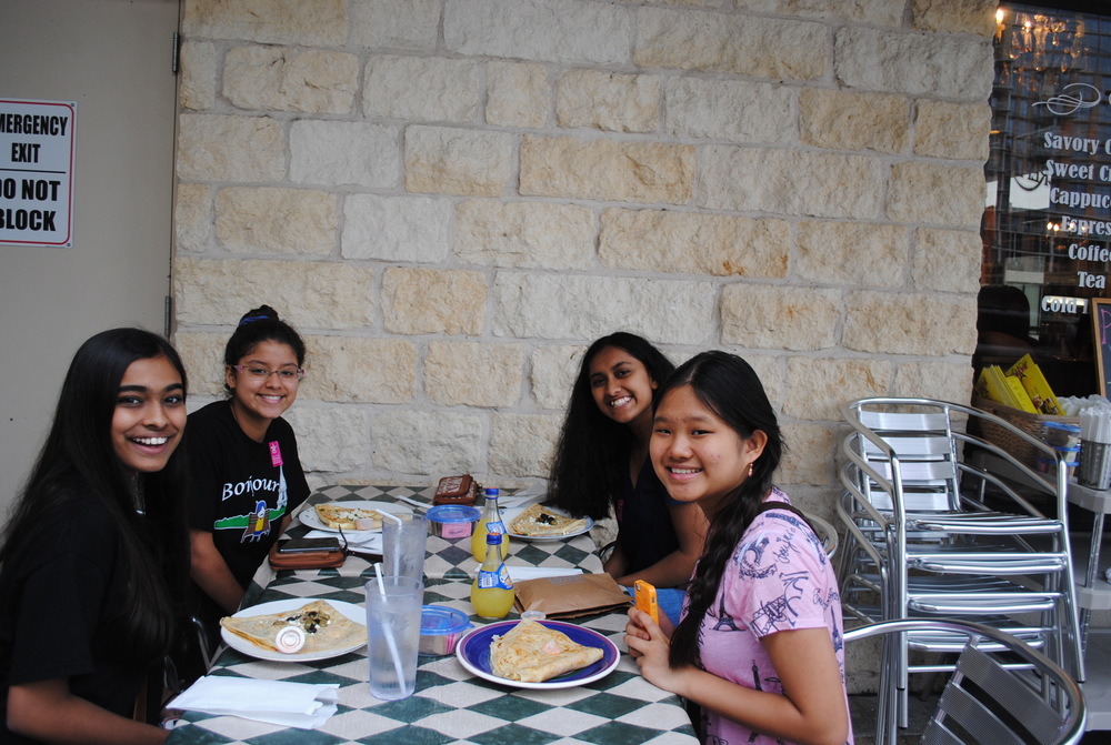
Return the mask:
M 72 246 L 77 103 L 0 98 L 0 244 Z

